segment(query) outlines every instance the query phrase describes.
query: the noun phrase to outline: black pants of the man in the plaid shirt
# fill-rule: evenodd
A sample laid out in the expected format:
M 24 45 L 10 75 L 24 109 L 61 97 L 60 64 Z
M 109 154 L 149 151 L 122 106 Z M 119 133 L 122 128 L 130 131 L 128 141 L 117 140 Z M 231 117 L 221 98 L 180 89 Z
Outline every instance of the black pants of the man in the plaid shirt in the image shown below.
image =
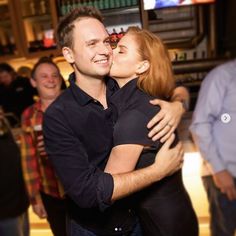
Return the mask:
M 41 192 L 41 198 L 47 212 L 47 221 L 54 236 L 66 236 L 65 200 Z

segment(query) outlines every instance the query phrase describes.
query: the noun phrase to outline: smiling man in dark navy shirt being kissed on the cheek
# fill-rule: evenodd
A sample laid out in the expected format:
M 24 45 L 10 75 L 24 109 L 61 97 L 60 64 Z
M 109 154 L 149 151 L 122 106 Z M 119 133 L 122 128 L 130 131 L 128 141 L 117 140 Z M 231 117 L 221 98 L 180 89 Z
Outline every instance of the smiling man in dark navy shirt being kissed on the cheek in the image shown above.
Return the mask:
M 72 11 L 58 26 L 58 43 L 75 72 L 70 87 L 46 111 L 45 145 L 67 195 L 69 235 L 138 235 L 129 202 L 117 200 L 178 169 L 182 150 L 173 149 L 176 155 L 170 162 L 160 159 L 142 170 L 120 175 L 103 172 L 114 124 L 109 98 L 117 86 L 105 78 L 112 50 L 101 19 L 94 8 L 84 7 Z M 182 114 L 181 104 L 175 105 Z M 173 123 L 166 125 L 169 121 Z M 174 122 L 167 116 L 161 124 L 165 127 L 157 129 L 168 138 Z

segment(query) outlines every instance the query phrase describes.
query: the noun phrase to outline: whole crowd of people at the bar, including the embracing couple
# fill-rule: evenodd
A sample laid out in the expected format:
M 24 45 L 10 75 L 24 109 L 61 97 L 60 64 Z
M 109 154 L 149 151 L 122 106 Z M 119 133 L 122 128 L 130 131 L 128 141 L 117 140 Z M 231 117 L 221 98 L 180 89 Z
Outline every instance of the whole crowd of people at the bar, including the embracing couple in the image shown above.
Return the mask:
M 189 94 L 161 39 L 130 27 L 112 50 L 93 7 L 68 13 L 56 36 L 74 70 L 68 88 L 50 58 L 30 78 L 0 63 L 0 235 L 29 235 L 29 204 L 55 236 L 199 235 L 176 131 Z M 211 174 L 213 236 L 236 228 L 234 64 L 209 73 L 191 125 Z M 8 113 L 20 120 L 20 146 Z

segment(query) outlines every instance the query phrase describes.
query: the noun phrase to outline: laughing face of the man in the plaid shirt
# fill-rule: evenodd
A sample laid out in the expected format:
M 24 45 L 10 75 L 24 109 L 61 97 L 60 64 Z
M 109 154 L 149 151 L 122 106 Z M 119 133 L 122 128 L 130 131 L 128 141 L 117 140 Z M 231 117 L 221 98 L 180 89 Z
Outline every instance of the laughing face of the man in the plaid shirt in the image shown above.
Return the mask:
M 38 90 L 42 99 L 55 99 L 61 91 L 62 78 L 58 69 L 48 63 L 39 65 L 35 71 L 32 85 Z

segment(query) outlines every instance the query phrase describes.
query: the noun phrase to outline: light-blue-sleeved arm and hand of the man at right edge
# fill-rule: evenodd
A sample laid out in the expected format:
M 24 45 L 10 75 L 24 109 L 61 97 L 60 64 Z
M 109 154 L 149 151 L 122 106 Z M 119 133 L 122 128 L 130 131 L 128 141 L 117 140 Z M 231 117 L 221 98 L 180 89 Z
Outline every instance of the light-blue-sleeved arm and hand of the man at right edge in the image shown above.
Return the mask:
M 230 200 L 233 200 L 236 199 L 234 179 L 231 173 L 227 171 L 227 166 L 218 151 L 213 136 L 213 125 L 219 119 L 227 84 L 229 84 L 227 76 L 218 69 L 212 71 L 204 79 L 190 131 L 202 157 L 210 165 L 215 185 Z

